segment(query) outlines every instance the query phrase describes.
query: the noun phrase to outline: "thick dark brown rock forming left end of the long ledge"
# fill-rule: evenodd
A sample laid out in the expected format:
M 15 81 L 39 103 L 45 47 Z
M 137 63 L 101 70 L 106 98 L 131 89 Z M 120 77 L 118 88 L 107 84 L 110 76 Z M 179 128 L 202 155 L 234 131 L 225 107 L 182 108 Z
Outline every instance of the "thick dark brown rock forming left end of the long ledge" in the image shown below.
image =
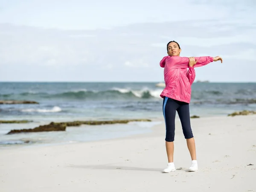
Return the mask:
M 33 129 L 13 129 L 8 134 L 24 133 L 24 132 L 41 132 L 41 131 L 66 131 L 66 125 L 55 124 L 51 122 L 49 125 L 40 125 Z

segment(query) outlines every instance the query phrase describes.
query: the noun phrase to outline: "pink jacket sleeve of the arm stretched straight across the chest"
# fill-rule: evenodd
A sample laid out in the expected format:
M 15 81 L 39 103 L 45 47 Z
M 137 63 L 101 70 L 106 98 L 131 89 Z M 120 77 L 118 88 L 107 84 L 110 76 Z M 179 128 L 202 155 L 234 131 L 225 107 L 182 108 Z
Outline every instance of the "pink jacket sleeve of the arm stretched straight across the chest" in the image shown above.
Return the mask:
M 202 67 L 209 64 L 213 61 L 213 57 L 204 56 L 204 57 L 195 57 L 197 63 L 194 67 Z M 189 58 L 188 57 L 170 57 L 169 60 L 170 66 L 172 68 L 189 68 Z

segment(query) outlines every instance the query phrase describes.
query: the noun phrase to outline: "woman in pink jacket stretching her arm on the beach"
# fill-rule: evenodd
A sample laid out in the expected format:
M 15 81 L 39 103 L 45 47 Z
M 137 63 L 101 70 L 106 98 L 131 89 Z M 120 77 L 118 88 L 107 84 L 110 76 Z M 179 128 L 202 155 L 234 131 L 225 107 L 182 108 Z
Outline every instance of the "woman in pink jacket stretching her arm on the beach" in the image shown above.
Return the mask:
M 163 116 L 166 123 L 166 152 L 168 165 L 164 173 L 175 171 L 173 163 L 174 136 L 175 136 L 175 115 L 179 115 L 184 137 L 192 159 L 189 172 L 198 170 L 196 160 L 195 140 L 190 125 L 189 102 L 191 99 L 191 85 L 195 80 L 194 67 L 201 67 L 212 61 L 221 61 L 217 57 L 180 57 L 180 45 L 175 41 L 167 44 L 168 56 L 160 61 L 160 67 L 164 67 L 164 80 L 166 87 L 160 96 L 163 98 Z M 189 68 L 189 70 L 187 70 Z

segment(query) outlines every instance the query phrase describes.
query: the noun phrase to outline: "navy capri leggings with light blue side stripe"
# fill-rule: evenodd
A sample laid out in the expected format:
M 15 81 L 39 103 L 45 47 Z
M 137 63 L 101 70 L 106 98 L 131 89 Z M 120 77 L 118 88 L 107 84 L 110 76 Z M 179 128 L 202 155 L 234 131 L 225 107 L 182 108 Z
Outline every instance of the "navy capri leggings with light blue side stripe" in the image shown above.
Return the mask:
M 177 101 L 169 97 L 163 99 L 163 116 L 166 123 L 166 138 L 168 142 L 174 141 L 175 136 L 175 115 L 176 111 L 180 117 L 180 122 L 185 139 L 190 139 L 193 136 L 190 115 L 189 104 L 186 102 Z

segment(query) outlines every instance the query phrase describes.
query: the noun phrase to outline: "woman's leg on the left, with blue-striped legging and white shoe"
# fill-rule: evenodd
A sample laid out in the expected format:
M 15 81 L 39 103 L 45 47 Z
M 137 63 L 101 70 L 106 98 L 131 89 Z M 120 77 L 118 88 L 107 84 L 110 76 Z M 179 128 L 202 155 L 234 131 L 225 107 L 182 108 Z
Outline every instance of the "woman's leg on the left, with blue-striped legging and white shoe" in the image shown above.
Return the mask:
M 174 136 L 175 136 L 175 115 L 176 109 L 179 107 L 177 102 L 173 99 L 165 97 L 163 100 L 163 116 L 166 123 L 166 153 L 168 157 L 167 168 L 163 170 L 165 173 L 175 171 L 173 163 L 173 152 L 174 152 Z

